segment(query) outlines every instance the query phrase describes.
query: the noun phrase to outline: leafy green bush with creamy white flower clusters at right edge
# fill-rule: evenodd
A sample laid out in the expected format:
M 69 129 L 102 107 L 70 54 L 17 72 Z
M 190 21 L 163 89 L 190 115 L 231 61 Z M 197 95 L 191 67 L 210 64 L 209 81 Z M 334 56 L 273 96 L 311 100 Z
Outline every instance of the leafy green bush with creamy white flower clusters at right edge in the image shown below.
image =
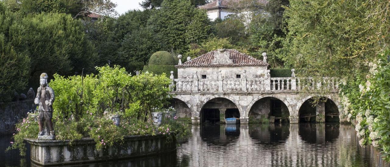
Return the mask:
M 370 70 L 364 78 L 357 77 L 340 84 L 342 115 L 356 120 L 355 130 L 361 138 L 359 144 L 372 144 L 382 150 L 390 161 L 390 65 L 386 51 L 381 59 L 369 62 Z

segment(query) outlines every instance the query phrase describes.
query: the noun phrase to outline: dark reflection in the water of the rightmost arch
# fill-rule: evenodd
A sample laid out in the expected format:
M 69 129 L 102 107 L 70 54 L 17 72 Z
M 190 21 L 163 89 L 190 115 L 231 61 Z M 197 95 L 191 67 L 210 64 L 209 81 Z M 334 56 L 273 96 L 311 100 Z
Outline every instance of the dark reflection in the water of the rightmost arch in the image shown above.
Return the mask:
M 339 133 L 339 123 L 299 124 L 299 135 L 304 142 L 309 144 L 324 144 L 326 142 L 334 142 L 339 138 Z

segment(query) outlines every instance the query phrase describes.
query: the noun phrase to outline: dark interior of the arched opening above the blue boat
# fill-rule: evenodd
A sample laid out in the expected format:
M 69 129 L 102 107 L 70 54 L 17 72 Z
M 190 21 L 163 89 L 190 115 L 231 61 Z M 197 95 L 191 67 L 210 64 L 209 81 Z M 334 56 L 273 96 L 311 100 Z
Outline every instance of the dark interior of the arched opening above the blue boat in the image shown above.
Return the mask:
M 213 98 L 204 103 L 200 110 L 200 122 L 216 123 L 221 119 L 240 117 L 240 112 L 235 103 L 227 98 Z

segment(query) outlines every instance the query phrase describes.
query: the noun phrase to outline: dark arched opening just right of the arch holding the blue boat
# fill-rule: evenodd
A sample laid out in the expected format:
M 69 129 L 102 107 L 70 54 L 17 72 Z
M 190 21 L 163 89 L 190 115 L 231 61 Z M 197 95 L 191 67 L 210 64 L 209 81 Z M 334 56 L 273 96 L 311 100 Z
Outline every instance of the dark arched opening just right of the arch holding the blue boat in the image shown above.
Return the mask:
M 289 109 L 283 101 L 274 97 L 265 97 L 257 100 L 249 110 L 250 123 L 265 123 L 275 117 L 275 122 L 288 122 Z M 272 116 L 272 117 L 271 117 Z

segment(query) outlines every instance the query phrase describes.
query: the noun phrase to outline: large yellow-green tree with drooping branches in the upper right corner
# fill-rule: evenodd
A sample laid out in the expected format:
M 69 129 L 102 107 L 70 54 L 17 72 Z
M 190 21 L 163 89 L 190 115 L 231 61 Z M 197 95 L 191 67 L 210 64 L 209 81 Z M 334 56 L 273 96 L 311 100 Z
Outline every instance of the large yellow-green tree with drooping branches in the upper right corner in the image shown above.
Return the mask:
M 365 76 L 365 64 L 389 44 L 389 5 L 388 0 L 291 0 L 285 60 L 307 75 Z

